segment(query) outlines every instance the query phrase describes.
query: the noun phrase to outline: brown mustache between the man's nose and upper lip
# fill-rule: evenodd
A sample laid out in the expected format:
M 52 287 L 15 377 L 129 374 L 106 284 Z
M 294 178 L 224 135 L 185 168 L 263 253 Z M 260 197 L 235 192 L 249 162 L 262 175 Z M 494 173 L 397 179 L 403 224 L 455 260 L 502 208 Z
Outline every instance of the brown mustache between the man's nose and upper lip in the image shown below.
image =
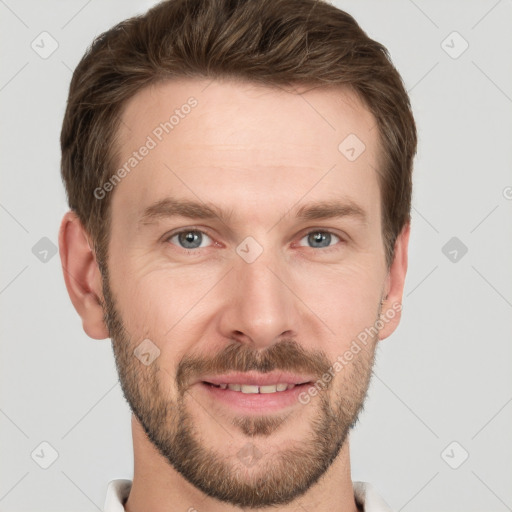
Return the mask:
M 268 373 L 282 370 L 312 374 L 320 379 L 330 367 L 331 363 L 325 352 L 308 352 L 295 340 L 283 340 L 264 351 L 253 350 L 247 345 L 236 343 L 226 346 L 211 359 L 184 356 L 176 370 L 176 386 L 180 394 L 183 394 L 189 383 L 202 375 L 228 372 Z

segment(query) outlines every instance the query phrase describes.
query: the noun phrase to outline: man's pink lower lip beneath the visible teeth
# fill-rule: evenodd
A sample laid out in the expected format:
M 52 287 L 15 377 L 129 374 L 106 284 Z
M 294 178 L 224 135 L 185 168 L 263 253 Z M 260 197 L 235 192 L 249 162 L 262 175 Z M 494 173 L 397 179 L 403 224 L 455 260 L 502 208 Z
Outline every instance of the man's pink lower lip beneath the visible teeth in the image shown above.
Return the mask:
M 259 414 L 280 411 L 300 403 L 299 395 L 310 385 L 310 383 L 300 384 L 292 389 L 276 393 L 242 393 L 241 391 L 217 388 L 205 382 L 199 383 L 199 386 L 214 400 L 244 413 Z

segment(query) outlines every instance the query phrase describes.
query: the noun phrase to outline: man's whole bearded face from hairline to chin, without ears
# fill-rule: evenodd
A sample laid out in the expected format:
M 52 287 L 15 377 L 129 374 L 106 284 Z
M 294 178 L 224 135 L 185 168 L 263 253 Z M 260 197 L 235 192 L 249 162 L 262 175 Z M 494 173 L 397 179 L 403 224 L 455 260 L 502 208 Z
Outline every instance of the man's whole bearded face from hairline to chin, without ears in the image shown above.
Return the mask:
M 332 366 L 386 293 L 375 120 L 347 91 L 187 80 L 143 90 L 122 121 L 119 167 L 138 156 L 111 192 L 103 292 L 125 396 L 204 493 L 288 503 L 336 458 L 369 384 L 376 336 Z

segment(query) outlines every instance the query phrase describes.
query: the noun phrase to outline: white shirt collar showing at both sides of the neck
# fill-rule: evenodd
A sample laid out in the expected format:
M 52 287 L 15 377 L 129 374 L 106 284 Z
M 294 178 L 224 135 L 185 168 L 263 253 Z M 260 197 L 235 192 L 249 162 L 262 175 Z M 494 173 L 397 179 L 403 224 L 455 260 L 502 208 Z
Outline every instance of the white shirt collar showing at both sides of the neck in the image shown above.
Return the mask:
M 131 480 L 112 480 L 108 484 L 104 512 L 124 512 L 124 503 L 128 499 Z M 353 482 L 356 503 L 364 512 L 393 512 L 368 482 Z

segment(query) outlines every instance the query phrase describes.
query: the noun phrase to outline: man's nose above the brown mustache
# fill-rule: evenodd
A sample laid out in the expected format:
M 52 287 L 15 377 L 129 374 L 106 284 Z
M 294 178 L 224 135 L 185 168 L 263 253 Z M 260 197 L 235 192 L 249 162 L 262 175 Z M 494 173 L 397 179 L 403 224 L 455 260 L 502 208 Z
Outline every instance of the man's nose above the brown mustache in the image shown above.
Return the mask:
M 255 350 L 295 337 L 300 300 L 293 293 L 292 281 L 286 263 L 269 251 L 252 263 L 235 258 L 223 283 L 222 335 Z

